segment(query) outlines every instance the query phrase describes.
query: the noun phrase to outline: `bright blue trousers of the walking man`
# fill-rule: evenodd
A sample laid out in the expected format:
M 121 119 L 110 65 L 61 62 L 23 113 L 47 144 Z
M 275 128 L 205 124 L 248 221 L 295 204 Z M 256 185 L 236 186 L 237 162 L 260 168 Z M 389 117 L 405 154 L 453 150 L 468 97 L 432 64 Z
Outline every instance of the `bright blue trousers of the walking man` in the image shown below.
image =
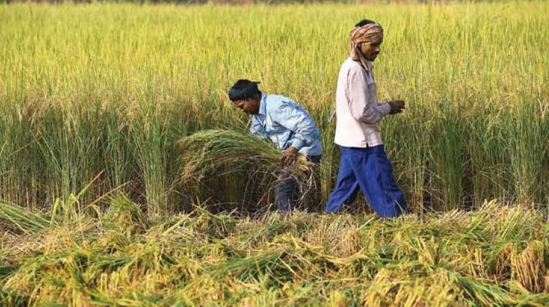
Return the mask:
M 355 148 L 340 146 L 341 162 L 336 188 L 326 204 L 325 212 L 337 212 L 349 205 L 358 189 L 380 217 L 398 217 L 408 211 L 399 187 L 393 178 L 384 145 Z

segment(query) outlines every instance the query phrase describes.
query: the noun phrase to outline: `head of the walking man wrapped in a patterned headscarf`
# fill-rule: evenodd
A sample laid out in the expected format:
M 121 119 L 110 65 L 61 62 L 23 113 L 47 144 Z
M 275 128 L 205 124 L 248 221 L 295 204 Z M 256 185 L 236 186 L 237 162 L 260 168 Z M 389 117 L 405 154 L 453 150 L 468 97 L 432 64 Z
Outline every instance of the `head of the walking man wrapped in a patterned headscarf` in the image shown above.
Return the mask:
M 381 49 L 383 28 L 379 23 L 363 19 L 351 30 L 351 58 L 362 62 L 361 58 L 373 62 Z

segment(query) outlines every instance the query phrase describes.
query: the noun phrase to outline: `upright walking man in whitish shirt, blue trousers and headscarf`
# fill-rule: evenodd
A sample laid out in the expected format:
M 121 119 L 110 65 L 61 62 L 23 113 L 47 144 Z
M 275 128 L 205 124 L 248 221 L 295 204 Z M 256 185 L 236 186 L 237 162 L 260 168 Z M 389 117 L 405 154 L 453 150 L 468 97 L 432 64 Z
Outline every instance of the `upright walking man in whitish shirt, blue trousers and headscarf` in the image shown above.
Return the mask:
M 364 19 L 351 31 L 351 54 L 343 62 L 336 90 L 336 138 L 341 152 L 336 187 L 325 212 L 351 204 L 358 189 L 380 217 L 397 217 L 408 207 L 393 178 L 379 121 L 404 110 L 404 101 L 378 103 L 372 63 L 383 42 L 379 23 Z

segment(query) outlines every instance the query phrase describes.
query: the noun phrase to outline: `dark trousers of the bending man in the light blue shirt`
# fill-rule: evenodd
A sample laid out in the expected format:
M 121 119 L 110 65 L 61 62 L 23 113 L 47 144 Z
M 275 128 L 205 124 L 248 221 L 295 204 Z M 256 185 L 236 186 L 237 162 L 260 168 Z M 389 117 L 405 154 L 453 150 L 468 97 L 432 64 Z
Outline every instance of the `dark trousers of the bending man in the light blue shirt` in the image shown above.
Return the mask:
M 320 188 L 320 180 L 318 180 L 318 164 L 320 164 L 321 156 L 307 157 L 307 161 L 313 162 L 311 169 L 312 173 L 306 173 L 305 177 L 309 177 L 310 182 L 307 188 L 312 189 L 312 196 L 314 196 Z M 278 183 L 276 186 L 275 204 L 277 204 L 280 211 L 291 211 L 296 208 L 299 202 L 299 197 L 303 196 L 302 187 L 299 185 L 300 178 L 295 177 L 292 173 L 288 173 L 285 169 L 281 169 L 277 172 Z M 313 197 L 314 198 L 314 197 Z

